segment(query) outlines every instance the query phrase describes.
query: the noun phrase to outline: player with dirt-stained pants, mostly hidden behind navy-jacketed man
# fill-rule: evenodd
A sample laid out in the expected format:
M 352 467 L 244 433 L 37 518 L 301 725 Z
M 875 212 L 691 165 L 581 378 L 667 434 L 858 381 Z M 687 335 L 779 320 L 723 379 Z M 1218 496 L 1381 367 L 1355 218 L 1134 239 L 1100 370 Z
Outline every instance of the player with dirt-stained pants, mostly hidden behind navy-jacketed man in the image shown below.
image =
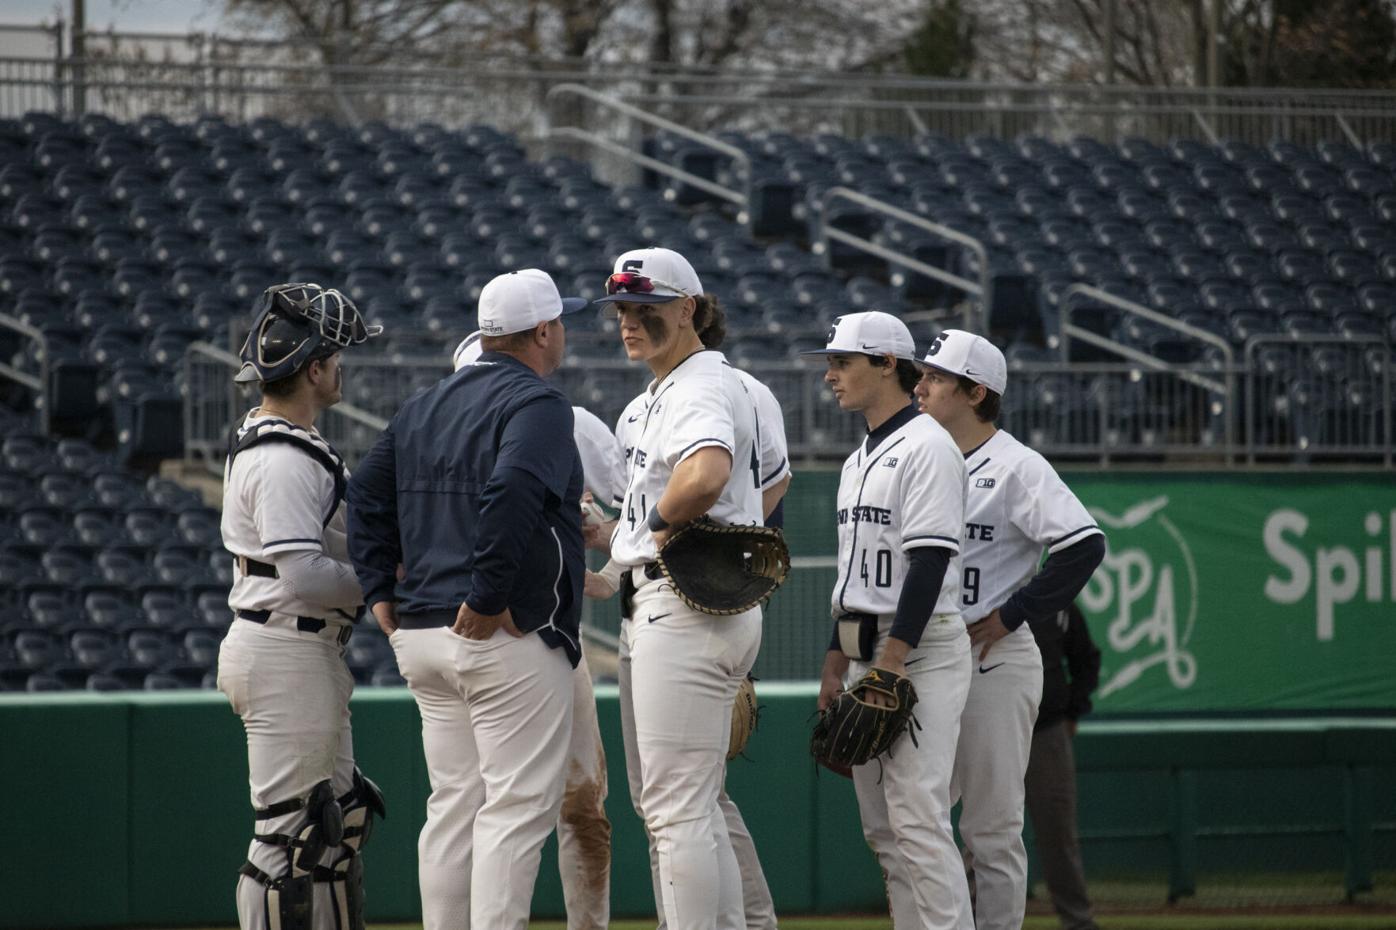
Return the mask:
M 459 371 L 477 364 L 480 331 L 461 339 L 452 363 Z M 572 438 L 582 459 L 582 483 L 597 500 L 625 490 L 625 469 L 616 437 L 581 406 L 572 408 Z M 557 870 L 563 878 L 567 930 L 610 926 L 610 820 L 606 817 L 606 751 L 596 718 L 596 693 L 586 656 L 572 672 L 572 736 L 567 747 L 563 809 L 557 818 Z

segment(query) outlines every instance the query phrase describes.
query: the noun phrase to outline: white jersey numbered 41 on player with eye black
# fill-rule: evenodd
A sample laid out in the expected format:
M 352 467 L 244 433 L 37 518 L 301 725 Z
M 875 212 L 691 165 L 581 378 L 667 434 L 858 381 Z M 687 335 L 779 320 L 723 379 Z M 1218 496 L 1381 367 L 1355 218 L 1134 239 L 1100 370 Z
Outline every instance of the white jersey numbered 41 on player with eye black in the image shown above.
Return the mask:
M 627 485 L 611 559 L 638 566 L 655 557 L 645 525 L 674 468 L 701 448 L 732 452 L 732 478 L 708 515 L 719 524 L 761 525 L 761 458 L 755 402 L 722 352 L 701 350 L 663 381 L 651 383 L 621 413 L 616 437 L 625 452 Z

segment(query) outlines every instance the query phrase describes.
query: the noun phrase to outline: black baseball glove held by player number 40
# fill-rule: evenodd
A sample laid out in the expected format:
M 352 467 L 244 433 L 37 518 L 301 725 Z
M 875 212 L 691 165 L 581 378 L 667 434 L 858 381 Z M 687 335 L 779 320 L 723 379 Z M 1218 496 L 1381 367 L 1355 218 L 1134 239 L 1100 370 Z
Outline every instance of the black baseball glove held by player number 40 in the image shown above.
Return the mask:
M 892 707 L 867 701 L 872 691 L 892 700 Z M 847 691 L 819 714 L 810 736 L 810 754 L 836 772 L 863 765 L 892 748 L 903 730 L 917 723 L 916 688 L 912 680 L 885 669 L 868 669 Z M 912 732 L 912 741 L 916 733 Z

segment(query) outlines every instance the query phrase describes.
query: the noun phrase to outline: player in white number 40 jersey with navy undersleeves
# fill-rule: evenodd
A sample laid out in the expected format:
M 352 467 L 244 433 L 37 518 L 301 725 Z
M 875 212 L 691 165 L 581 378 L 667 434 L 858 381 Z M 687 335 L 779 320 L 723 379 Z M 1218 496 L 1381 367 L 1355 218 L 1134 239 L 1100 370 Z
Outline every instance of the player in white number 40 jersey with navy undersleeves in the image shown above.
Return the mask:
M 886 313 L 833 321 L 825 381 L 839 408 L 867 420 L 843 462 L 839 574 L 819 709 L 870 667 L 909 676 L 920 702 L 916 741 L 853 768 L 863 834 L 886 876 L 898 927 L 945 930 L 967 896 L 951 832 L 951 765 L 969 691 L 969 638 L 959 616 L 965 459 L 912 404 L 912 334 Z

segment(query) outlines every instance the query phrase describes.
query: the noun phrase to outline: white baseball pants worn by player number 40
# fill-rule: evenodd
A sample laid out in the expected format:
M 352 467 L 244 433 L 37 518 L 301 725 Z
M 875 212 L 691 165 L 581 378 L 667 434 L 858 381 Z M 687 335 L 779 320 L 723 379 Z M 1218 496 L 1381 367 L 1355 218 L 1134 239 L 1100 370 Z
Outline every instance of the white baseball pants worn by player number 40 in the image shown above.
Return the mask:
M 877 649 L 891 628 L 884 617 Z M 849 663 L 845 686 L 870 667 Z M 886 876 L 895 927 L 951 930 L 960 898 L 969 898 L 965 867 L 951 828 L 951 768 L 960 711 L 969 693 L 969 634 L 959 614 L 937 614 L 906 656 L 916 686 L 916 743 L 910 733 L 886 755 L 853 768 L 863 835 Z M 914 725 L 913 725 L 914 726 Z

